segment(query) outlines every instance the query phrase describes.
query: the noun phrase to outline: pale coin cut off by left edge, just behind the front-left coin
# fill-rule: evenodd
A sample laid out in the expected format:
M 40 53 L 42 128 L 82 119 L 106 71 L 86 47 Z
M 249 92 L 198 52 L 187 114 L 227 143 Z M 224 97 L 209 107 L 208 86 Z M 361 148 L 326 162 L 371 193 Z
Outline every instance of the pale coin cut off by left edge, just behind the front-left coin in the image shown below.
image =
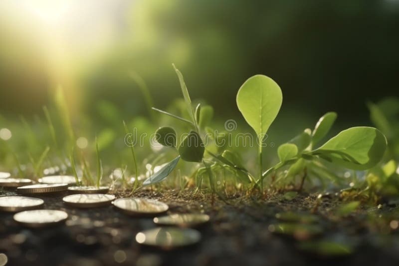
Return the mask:
M 0 197 L 0 210 L 4 212 L 21 212 L 42 206 L 43 200 L 30 197 Z

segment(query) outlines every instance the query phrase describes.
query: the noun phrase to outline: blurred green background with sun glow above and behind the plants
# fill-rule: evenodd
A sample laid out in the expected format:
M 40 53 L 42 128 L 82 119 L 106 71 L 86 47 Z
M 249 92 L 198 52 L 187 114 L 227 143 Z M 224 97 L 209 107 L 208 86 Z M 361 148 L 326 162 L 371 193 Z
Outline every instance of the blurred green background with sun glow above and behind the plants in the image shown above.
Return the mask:
M 283 90 L 275 138 L 327 111 L 371 125 L 366 102 L 398 96 L 398 25 L 398 0 L 1 0 L 0 114 L 34 120 L 61 85 L 77 130 L 112 130 L 151 116 L 138 81 L 158 108 L 181 97 L 175 63 L 216 121 L 242 122 L 236 92 L 261 73 Z

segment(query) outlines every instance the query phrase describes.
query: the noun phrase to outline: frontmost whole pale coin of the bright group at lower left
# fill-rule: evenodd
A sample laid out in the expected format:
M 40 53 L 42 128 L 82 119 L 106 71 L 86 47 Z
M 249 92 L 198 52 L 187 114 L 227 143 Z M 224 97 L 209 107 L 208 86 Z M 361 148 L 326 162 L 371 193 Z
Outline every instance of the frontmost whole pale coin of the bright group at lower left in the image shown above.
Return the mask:
M 26 227 L 45 227 L 65 221 L 68 214 L 58 210 L 32 210 L 14 214 L 14 220 Z

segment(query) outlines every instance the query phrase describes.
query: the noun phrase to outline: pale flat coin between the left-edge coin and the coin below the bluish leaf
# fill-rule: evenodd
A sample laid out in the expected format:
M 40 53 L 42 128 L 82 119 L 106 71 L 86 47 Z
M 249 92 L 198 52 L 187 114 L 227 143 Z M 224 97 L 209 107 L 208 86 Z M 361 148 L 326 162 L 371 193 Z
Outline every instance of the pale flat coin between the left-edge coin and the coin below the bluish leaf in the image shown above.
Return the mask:
M 78 208 L 95 208 L 111 204 L 115 200 L 114 195 L 106 194 L 74 194 L 64 197 L 63 202 Z

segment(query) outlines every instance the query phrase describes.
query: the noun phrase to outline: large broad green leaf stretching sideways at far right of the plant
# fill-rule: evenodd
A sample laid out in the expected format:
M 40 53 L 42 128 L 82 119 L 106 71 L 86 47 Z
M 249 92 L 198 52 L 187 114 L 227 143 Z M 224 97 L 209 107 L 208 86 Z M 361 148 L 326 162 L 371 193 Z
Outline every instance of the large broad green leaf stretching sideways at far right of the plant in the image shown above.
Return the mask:
M 375 166 L 384 156 L 386 137 L 373 127 L 352 127 L 341 131 L 312 155 L 355 170 L 366 170 Z

